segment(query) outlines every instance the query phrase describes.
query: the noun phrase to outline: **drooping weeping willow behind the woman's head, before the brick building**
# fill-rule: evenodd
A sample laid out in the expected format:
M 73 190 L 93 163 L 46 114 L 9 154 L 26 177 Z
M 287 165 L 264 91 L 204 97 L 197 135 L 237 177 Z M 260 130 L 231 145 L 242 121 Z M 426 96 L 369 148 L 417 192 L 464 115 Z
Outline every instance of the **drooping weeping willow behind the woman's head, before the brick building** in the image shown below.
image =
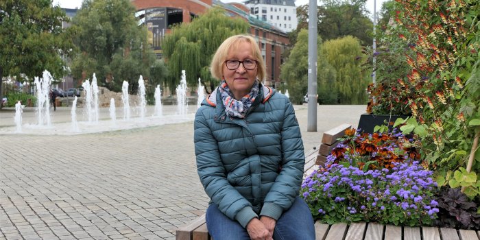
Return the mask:
M 230 18 L 220 8 L 211 8 L 191 23 L 173 27 L 162 44 L 163 57 L 170 72 L 169 87 L 173 89 L 178 85 L 181 71 L 185 70 L 188 86 L 197 86 L 200 77 L 202 84 L 213 90 L 217 85 L 209 69 L 213 54 L 226 38 L 245 34 L 248 28 L 248 22 Z

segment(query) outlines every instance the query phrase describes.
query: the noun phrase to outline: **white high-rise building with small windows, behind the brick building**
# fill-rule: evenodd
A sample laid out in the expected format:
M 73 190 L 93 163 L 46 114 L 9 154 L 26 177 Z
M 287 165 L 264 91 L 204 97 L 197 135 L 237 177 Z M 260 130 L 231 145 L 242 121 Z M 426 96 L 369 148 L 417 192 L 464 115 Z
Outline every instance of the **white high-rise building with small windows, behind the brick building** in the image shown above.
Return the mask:
M 267 21 L 283 32 L 291 32 L 297 28 L 295 0 L 247 0 L 245 5 L 257 19 Z

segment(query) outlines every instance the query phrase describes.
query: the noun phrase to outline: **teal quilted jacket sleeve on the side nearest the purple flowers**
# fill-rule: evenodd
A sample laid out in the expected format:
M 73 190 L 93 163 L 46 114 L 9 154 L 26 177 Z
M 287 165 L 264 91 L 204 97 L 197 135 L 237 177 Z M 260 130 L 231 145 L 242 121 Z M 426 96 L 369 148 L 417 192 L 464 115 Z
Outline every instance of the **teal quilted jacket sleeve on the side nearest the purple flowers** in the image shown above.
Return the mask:
M 281 130 L 282 170 L 267 193 L 260 215 L 277 219 L 290 208 L 302 184 L 305 156 L 300 127 L 290 101 L 285 97 Z

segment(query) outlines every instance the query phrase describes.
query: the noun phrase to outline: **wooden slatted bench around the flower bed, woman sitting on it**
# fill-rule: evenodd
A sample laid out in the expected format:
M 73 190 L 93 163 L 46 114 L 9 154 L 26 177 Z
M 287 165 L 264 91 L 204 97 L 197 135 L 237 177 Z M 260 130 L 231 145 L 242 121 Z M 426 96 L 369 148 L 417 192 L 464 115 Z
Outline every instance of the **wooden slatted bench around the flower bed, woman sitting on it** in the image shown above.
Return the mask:
M 304 176 L 308 176 L 317 165 L 324 165 L 326 156 L 337 145 L 337 139 L 344 136 L 348 124 L 324 132 L 322 144 L 305 156 Z M 323 146 L 323 147 L 322 147 Z M 455 230 L 452 228 L 433 228 L 381 225 L 374 223 L 322 224 L 315 222 L 317 240 L 480 240 L 480 232 Z M 177 240 L 211 240 L 205 223 L 205 215 L 187 226 L 176 230 Z

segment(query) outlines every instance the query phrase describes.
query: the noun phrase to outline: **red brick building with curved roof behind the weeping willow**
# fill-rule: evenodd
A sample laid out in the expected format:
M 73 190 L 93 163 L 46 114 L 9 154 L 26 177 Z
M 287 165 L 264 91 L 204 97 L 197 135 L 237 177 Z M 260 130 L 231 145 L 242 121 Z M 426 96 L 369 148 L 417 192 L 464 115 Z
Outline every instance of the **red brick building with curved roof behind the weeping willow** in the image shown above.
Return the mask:
M 289 0 L 291 1 L 291 0 Z M 219 6 L 226 10 L 228 16 L 239 16 L 250 23 L 250 34 L 257 40 L 267 65 L 265 84 L 278 88 L 282 53 L 289 45 L 287 34 L 274 25 L 257 19 L 250 14 L 250 8 L 242 3 L 223 3 L 217 0 L 132 0 L 136 7 L 136 16 L 149 30 L 149 42 L 161 57 L 161 41 L 175 23 L 189 23 L 194 16 L 200 15 L 208 8 Z M 296 15 L 296 14 L 295 14 Z M 295 18 L 296 19 L 296 18 Z

